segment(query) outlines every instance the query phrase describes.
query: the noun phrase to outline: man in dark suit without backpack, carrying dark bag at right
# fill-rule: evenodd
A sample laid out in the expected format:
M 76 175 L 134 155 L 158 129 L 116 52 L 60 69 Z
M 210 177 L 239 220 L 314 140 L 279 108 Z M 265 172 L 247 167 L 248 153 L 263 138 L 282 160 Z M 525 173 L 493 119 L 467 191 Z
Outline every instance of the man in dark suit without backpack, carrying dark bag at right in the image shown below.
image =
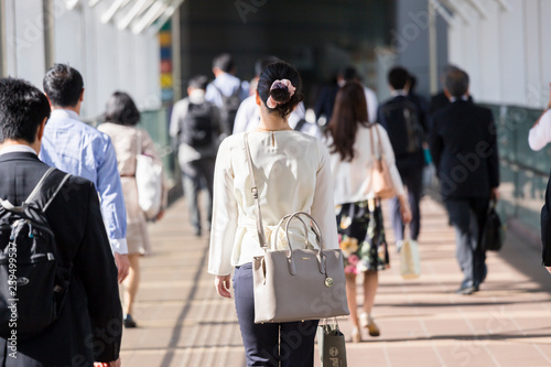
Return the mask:
M 496 126 L 489 109 L 468 100 L 464 71 L 447 73 L 444 91 L 451 104 L 434 115 L 429 142 L 442 198 L 456 231 L 455 255 L 464 276 L 457 293 L 472 294 L 487 274 L 480 229 L 489 199 L 498 198 Z

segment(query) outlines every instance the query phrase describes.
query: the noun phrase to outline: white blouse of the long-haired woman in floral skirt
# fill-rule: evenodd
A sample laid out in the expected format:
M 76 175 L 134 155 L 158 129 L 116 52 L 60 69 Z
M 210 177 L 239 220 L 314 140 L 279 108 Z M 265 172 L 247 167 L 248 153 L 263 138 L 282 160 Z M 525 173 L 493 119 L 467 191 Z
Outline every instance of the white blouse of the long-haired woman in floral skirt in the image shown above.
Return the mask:
M 395 164 L 395 152 L 388 138 L 387 130 L 379 123 L 375 127 L 379 130 L 382 155 L 390 171 L 390 177 L 395 185 L 398 195 L 403 195 L 403 184 L 400 179 L 400 173 Z M 379 152 L 379 138 L 374 130 L 375 152 Z M 331 147 L 332 139 L 327 139 L 326 144 Z M 331 148 L 329 148 L 331 149 Z M 374 158 L 371 153 L 371 140 L 369 137 L 369 128 L 359 126 L 356 132 L 356 141 L 354 142 L 354 159 L 352 162 L 341 160 L 338 152 L 331 153 L 331 171 L 333 172 L 333 186 L 335 190 L 335 205 L 346 203 L 357 203 L 372 198 L 375 195 L 371 191 L 371 169 L 374 166 Z

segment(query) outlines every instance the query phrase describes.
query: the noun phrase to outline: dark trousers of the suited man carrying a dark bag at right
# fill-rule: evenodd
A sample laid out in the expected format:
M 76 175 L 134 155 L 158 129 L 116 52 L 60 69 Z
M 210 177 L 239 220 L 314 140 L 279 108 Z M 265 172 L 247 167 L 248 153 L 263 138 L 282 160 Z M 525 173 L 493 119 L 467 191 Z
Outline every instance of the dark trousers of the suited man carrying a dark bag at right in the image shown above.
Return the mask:
M 486 251 L 480 235 L 489 198 L 447 199 L 450 220 L 455 227 L 455 257 L 463 271 L 463 287 L 477 287 L 486 278 Z

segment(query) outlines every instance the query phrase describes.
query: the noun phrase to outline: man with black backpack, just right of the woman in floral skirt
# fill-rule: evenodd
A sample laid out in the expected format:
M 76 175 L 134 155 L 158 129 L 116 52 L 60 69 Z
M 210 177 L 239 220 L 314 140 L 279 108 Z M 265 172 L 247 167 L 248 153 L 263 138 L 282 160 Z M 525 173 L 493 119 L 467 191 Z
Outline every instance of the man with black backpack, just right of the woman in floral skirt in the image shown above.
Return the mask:
M 403 67 L 395 67 L 388 73 L 388 84 L 392 98 L 385 101 L 378 110 L 378 121 L 385 127 L 396 155 L 396 168 L 403 185 L 408 188 L 411 207 L 410 237 L 417 240 L 421 230 L 419 203 L 423 191 L 424 153 L 429 126 L 426 115 L 409 97 L 410 74 Z M 403 241 L 406 224 L 401 216 L 398 197 L 390 199 L 390 216 L 397 249 Z

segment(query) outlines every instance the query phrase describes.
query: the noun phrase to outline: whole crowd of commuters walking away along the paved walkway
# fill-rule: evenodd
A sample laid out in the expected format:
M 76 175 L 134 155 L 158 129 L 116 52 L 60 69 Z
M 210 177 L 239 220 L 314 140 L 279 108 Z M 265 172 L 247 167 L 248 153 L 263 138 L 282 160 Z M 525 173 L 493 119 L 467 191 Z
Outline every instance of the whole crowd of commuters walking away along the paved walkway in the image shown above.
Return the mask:
M 325 248 L 342 249 L 350 339 L 360 342 L 363 328 L 370 336 L 381 333 L 372 309 L 379 271 L 389 266 L 372 168 L 383 160 L 389 169 L 396 196 L 388 205 L 393 245 L 400 251 L 404 240 L 419 239 L 423 170 L 434 162 L 456 231 L 455 253 L 463 272 L 457 293 L 479 291 L 488 271 L 480 234 L 490 202 L 499 197 L 499 165 L 491 112 L 474 104 L 464 71 L 447 67 L 443 91 L 429 105 L 414 93 L 415 77 L 393 67 L 388 74 L 391 98 L 379 106 L 357 69 L 346 66 L 322 89 L 315 122 L 306 121 L 303 83 L 292 65 L 273 56 L 261 58 L 250 84 L 236 76 L 229 54 L 215 57 L 212 71 L 210 83 L 204 75 L 190 79 L 187 97 L 173 107 L 170 136 L 194 233 L 201 237 L 204 226 L 209 227 L 208 272 L 220 296 L 231 298 L 233 284 L 248 366 L 313 366 L 317 326 L 316 320 L 255 323 L 252 259 L 264 250 L 253 195 L 273 249 L 284 248 L 276 227 L 294 212 L 312 215 Z M 111 95 L 105 121 L 96 129 L 79 118 L 84 80 L 76 69 L 55 65 L 43 87 L 44 93 L 24 80 L 0 80 L 0 198 L 12 209 L 24 207 L 44 174 L 44 195 L 62 187 L 63 195 L 52 196 L 45 216 L 60 261 L 72 273 L 58 317 L 19 344 L 22 359 L 14 366 L 71 365 L 74 355 L 88 365 L 120 366 L 122 325 L 137 326 L 132 313 L 139 260 L 151 251 L 138 199 L 137 156 L 160 162 L 160 155 L 151 137 L 137 128 L 140 112 L 128 94 Z M 549 116 L 544 112 L 530 132 L 533 149 L 551 140 Z M 324 120 L 322 131 L 317 122 Z M 208 195 L 205 216 L 199 207 L 203 188 Z M 162 191 L 156 219 L 166 207 L 166 187 Z M 291 225 L 289 238 L 306 238 L 309 247 L 318 248 L 306 231 L 306 226 Z M 549 253 L 544 265 L 551 269 Z M 122 283 L 122 305 L 117 282 Z M 100 338 L 106 330 L 110 337 L 100 341 L 101 350 L 84 343 L 88 335 L 93 342 Z M 296 333 L 299 342 L 292 337 Z M 0 344 L 0 360 L 6 360 L 4 335 Z

